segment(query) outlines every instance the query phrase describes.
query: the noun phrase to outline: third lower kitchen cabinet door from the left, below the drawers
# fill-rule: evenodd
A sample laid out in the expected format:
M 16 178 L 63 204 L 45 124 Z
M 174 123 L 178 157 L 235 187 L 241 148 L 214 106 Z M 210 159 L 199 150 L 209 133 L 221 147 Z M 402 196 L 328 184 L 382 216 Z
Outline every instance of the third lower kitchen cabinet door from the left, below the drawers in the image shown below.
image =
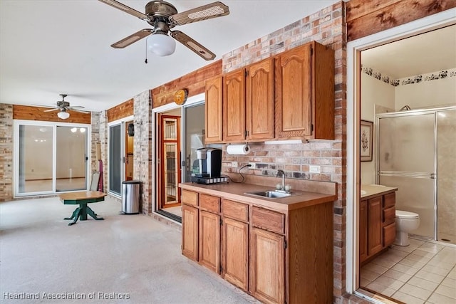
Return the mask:
M 222 227 L 222 276 L 228 282 L 247 291 L 249 225 L 224 218 Z

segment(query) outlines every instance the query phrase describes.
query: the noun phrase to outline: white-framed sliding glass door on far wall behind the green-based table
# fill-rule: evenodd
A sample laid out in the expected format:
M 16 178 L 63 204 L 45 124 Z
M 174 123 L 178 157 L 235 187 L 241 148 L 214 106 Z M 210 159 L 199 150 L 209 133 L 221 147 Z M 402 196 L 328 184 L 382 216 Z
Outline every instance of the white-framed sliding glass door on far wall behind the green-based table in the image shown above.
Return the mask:
M 16 121 L 15 195 L 87 189 L 88 125 Z

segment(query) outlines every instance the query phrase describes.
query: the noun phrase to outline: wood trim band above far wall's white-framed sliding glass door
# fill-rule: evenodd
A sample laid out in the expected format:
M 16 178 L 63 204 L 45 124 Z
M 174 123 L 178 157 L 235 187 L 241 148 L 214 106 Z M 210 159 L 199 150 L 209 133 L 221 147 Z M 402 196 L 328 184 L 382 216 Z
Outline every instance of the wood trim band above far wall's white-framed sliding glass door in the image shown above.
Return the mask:
M 13 119 L 14 120 L 40 120 L 48 122 L 73 122 L 89 124 L 91 121 L 90 113 L 82 113 L 68 110 L 70 117 L 66 120 L 58 118 L 58 111 L 44 112 L 49 108 L 30 107 L 28 105 L 13 105 Z

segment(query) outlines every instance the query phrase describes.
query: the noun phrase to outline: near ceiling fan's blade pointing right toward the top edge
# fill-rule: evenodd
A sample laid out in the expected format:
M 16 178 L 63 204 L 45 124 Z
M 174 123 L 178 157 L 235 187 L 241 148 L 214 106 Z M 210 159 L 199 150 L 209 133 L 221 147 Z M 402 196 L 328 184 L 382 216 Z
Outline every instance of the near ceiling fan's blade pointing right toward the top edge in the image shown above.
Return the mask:
M 222 4 L 222 2 L 217 1 L 172 15 L 170 16 L 170 23 L 174 24 L 175 26 L 180 26 L 182 24 L 212 19 L 215 17 L 227 16 L 228 14 L 228 6 Z

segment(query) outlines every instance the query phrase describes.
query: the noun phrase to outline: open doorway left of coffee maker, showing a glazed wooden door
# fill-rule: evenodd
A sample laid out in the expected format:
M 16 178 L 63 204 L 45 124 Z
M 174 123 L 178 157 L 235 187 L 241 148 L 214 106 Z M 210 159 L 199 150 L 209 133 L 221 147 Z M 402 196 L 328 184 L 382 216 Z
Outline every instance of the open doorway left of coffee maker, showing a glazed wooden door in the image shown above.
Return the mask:
M 191 181 L 195 150 L 204 145 L 204 95 L 184 106 L 164 105 L 154 110 L 155 212 L 182 221 L 180 182 Z

